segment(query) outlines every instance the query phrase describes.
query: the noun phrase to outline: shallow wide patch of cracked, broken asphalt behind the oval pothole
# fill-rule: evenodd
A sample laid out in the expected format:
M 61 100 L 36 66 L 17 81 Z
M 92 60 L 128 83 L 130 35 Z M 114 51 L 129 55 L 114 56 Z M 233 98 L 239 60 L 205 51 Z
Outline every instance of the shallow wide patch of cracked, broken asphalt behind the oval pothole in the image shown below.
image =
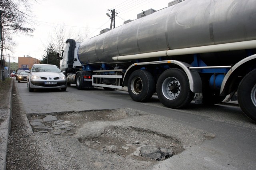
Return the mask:
M 140 116 L 141 113 L 133 109 L 123 108 L 47 114 L 32 113 L 28 115 L 28 119 L 34 132 L 50 132 L 56 135 L 68 132 L 68 135 L 72 135 L 75 133 L 74 129 L 78 129 L 88 122 L 118 121 L 134 115 Z

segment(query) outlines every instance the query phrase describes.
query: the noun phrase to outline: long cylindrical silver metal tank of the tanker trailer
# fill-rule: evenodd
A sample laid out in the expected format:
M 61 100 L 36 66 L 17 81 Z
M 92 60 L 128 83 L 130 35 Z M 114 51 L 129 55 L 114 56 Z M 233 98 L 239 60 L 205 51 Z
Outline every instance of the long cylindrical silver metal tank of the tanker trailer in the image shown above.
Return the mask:
M 84 41 L 78 59 L 115 63 L 116 56 L 255 40 L 255 9 L 255 0 L 185 0 Z

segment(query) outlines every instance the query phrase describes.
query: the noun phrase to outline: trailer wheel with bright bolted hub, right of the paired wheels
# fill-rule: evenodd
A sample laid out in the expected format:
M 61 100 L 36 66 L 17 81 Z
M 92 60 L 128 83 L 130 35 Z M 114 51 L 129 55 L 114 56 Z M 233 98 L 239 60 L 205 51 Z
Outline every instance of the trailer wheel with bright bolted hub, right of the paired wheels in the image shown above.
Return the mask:
M 194 98 L 188 76 L 178 68 L 165 70 L 158 78 L 156 93 L 160 102 L 170 108 L 185 107 Z

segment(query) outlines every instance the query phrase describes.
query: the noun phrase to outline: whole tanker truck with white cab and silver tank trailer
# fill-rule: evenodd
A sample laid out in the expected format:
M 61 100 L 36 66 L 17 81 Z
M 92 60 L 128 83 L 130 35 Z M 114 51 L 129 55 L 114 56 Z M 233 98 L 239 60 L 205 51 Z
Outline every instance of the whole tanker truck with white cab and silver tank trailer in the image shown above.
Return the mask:
M 66 41 L 60 69 L 76 88 L 156 93 L 170 108 L 237 100 L 256 121 L 255 0 L 184 0 L 82 43 Z

